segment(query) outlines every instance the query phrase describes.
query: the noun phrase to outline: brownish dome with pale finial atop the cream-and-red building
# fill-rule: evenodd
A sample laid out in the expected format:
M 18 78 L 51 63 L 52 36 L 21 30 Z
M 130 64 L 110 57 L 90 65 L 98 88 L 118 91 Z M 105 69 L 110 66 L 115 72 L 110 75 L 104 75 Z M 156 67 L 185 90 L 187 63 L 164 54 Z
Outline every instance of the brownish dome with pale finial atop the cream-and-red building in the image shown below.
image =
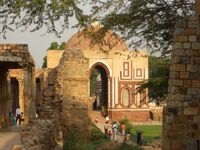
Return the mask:
M 93 23 L 91 27 L 74 34 L 65 44 L 65 49 L 81 49 L 95 51 L 127 51 L 128 47 L 124 40 L 117 34 L 108 30 L 105 36 L 100 33 L 103 29 L 98 23 Z

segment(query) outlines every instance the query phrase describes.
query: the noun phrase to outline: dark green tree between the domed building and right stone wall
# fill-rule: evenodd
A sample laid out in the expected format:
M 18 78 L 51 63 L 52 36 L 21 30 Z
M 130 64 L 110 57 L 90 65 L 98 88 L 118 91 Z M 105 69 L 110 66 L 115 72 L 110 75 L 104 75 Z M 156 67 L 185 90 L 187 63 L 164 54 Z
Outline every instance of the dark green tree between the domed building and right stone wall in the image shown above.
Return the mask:
M 157 102 L 165 100 L 168 92 L 169 68 L 169 59 L 150 56 L 149 80 L 138 88 L 138 92 L 148 88 L 150 99 Z

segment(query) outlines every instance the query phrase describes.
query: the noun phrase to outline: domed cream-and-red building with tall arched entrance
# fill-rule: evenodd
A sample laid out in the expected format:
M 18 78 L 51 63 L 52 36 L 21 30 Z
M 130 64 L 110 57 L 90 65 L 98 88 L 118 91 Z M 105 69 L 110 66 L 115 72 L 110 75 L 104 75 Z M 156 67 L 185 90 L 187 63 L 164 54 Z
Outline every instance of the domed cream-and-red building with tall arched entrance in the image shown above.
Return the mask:
M 101 26 L 94 24 L 93 26 L 84 29 L 73 35 L 65 44 L 62 61 L 67 60 L 67 57 L 73 57 L 70 54 L 71 50 L 77 49 L 83 53 L 88 60 L 88 68 L 82 70 L 88 74 L 88 95 L 84 97 L 96 96 L 98 110 L 108 113 L 113 120 L 127 118 L 130 121 L 147 121 L 149 119 L 149 108 L 147 104 L 147 90 L 142 93 L 137 93 L 136 88 L 148 79 L 148 55 L 146 52 L 129 51 L 127 45 L 122 38 L 117 36 L 112 31 L 107 31 L 101 42 L 93 41 L 87 33 L 92 33 L 98 37 Z M 55 54 L 56 53 L 56 54 Z M 47 65 L 51 68 L 50 61 L 59 62 L 61 56 L 58 53 L 62 51 L 48 51 Z M 64 63 L 64 62 L 63 62 Z M 69 62 L 70 63 L 70 62 Z M 74 64 L 63 67 L 68 73 L 73 76 L 73 79 L 78 75 L 72 74 L 77 72 L 78 65 Z M 72 66 L 74 66 L 72 68 Z M 52 68 L 55 67 L 52 66 Z M 95 83 L 91 85 L 91 75 L 96 71 L 97 75 Z M 63 77 L 65 78 L 65 77 Z M 84 83 L 84 84 L 85 84 Z M 91 86 L 94 86 L 93 89 Z M 73 88 L 73 87 L 72 87 Z M 69 88 L 70 90 L 70 88 Z M 80 95 L 79 90 L 71 92 L 72 96 Z M 70 93 L 70 91 L 69 91 Z M 89 105 L 91 103 L 88 103 Z M 92 104 L 91 104 L 92 105 Z M 90 106 L 92 107 L 92 106 Z

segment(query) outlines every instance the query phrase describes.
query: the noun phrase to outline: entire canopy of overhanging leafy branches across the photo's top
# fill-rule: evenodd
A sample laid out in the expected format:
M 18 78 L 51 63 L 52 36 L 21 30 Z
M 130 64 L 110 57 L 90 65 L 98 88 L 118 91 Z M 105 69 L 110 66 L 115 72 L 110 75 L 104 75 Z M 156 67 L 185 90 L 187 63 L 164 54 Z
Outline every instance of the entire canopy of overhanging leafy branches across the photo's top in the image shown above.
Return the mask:
M 47 33 L 60 36 L 69 28 L 69 18 L 76 17 L 76 27 L 94 20 L 104 25 L 104 31 L 120 32 L 130 46 L 147 47 L 162 55 L 171 50 L 175 22 L 194 13 L 195 0 L 15 0 L 0 1 L 2 33 L 23 28 L 36 31 L 46 26 Z M 91 13 L 85 15 L 85 3 Z M 87 7 L 88 9 L 88 7 Z M 59 30 L 61 28 L 61 30 Z M 102 37 L 102 36 L 99 36 Z

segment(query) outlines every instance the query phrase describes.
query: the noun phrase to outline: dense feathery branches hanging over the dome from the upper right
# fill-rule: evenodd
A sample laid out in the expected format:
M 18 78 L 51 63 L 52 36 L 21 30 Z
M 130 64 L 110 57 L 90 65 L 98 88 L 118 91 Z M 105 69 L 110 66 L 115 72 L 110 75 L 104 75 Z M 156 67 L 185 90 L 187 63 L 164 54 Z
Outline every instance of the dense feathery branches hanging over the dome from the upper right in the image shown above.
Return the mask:
M 177 20 L 193 13 L 194 0 L 102 0 L 93 8 L 94 19 L 120 32 L 130 46 L 161 55 L 170 53 Z

